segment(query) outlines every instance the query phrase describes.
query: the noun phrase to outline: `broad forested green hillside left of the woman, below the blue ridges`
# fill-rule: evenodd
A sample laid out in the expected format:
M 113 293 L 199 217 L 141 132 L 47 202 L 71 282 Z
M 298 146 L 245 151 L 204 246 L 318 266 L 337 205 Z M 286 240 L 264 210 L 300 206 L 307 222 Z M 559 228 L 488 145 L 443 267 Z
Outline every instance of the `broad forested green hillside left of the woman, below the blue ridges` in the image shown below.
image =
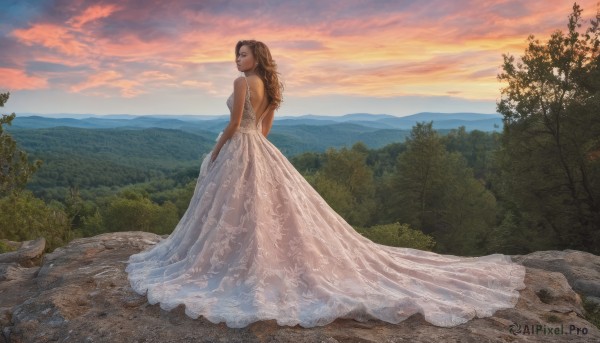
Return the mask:
M 113 189 L 180 173 L 194 177 L 214 146 L 212 134 L 157 128 L 11 129 L 11 135 L 31 158 L 43 161 L 27 187 L 46 199 L 62 198 L 70 186 Z

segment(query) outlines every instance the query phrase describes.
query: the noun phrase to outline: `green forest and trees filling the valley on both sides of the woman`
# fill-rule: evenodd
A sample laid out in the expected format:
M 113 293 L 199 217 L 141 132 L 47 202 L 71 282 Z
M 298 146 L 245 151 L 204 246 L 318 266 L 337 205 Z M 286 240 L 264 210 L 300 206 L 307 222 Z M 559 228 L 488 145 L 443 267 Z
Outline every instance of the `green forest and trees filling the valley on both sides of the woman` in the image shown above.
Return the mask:
M 462 256 L 600 254 L 600 16 L 584 28 L 581 12 L 575 5 L 566 32 L 530 36 L 522 56 L 502 56 L 502 132 L 420 122 L 382 147 L 358 142 L 290 162 L 380 244 Z M 0 94 L 0 107 L 9 96 Z M 43 236 L 48 251 L 103 232 L 169 234 L 214 144 L 173 129 L 9 134 L 15 117 L 0 119 L 0 238 Z

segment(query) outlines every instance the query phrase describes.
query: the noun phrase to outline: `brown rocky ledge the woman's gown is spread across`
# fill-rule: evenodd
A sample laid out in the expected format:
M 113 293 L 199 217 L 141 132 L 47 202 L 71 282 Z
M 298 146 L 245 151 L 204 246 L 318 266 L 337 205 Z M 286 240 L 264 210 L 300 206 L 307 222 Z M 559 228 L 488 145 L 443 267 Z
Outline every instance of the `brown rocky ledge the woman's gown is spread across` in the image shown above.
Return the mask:
M 191 319 L 183 305 L 164 311 L 131 289 L 125 262 L 160 239 L 145 232 L 107 233 L 74 240 L 44 255 L 39 266 L 0 271 L 0 342 L 600 341 L 573 291 L 597 295 L 600 257 L 583 252 L 515 256 L 527 266 L 527 287 L 517 306 L 453 328 L 414 315 L 400 324 L 338 319 L 306 329 L 271 320 L 231 329 L 203 317 Z

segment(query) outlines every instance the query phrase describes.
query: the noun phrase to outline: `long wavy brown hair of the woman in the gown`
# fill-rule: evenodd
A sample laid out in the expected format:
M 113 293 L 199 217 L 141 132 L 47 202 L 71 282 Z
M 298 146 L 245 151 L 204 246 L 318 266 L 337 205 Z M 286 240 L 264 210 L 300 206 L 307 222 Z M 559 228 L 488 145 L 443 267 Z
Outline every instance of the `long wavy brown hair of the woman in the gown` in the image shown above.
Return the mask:
M 235 46 L 235 58 L 240 54 L 240 48 L 247 46 L 252 51 L 258 66 L 256 74 L 263 80 L 267 92 L 267 100 L 269 104 L 278 109 L 283 102 L 283 83 L 279 81 L 279 72 L 277 71 L 277 63 L 271 57 L 271 52 L 267 45 L 263 42 L 250 39 L 241 40 Z

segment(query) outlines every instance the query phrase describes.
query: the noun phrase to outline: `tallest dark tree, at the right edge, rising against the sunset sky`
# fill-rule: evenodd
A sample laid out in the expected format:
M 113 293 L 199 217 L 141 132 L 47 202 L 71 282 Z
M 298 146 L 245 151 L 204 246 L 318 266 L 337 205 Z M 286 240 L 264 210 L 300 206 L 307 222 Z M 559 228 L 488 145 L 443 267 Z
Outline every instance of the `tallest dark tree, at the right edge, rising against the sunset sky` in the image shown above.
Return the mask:
M 568 32 L 529 36 L 504 55 L 500 189 L 520 226 L 554 237 L 547 248 L 600 253 L 600 12 L 584 33 L 579 5 Z

